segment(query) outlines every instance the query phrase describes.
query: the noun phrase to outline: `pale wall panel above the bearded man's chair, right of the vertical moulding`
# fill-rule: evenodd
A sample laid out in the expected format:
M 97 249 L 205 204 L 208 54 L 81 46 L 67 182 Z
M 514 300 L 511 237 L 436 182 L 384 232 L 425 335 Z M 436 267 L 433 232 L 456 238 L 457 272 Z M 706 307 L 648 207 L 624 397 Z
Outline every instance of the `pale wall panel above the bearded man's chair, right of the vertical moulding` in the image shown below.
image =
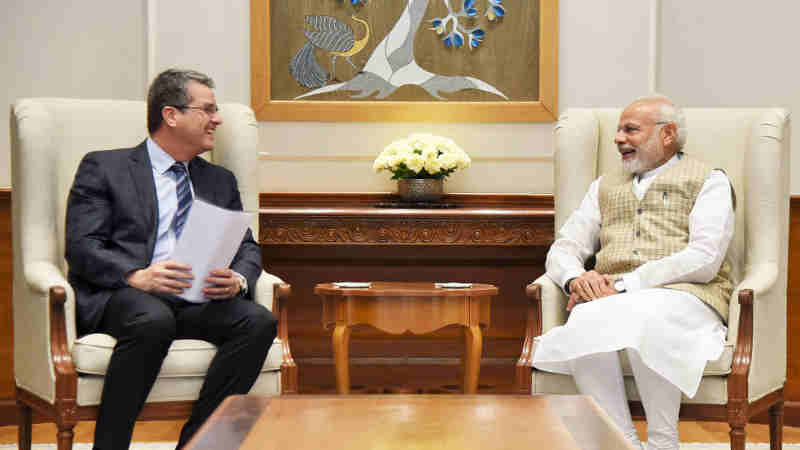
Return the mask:
M 662 92 L 683 106 L 783 106 L 795 114 L 800 111 L 800 3 L 662 3 Z M 795 194 L 800 193 L 798 123 L 795 117 Z

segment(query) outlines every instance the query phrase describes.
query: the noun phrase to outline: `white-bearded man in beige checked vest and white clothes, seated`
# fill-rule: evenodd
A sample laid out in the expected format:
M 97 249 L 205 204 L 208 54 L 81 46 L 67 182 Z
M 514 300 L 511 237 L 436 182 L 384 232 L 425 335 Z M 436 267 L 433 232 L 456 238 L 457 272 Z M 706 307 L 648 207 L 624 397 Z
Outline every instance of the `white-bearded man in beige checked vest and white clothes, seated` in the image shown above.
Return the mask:
M 635 446 L 618 351 L 647 415 L 648 450 L 678 449 L 681 394 L 693 397 L 725 343 L 733 290 L 731 184 L 684 149 L 683 113 L 661 96 L 634 101 L 614 138 L 618 170 L 589 187 L 547 255 L 569 295 L 564 326 L 544 334 L 534 366 L 572 374 Z M 584 264 L 595 256 L 593 270 Z

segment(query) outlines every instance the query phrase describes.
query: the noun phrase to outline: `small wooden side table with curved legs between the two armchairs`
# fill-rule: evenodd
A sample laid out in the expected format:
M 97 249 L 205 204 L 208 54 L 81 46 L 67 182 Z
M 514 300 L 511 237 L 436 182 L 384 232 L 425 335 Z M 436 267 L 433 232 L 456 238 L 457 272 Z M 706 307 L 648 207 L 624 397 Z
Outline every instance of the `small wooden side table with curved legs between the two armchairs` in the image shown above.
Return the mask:
M 322 297 L 322 325 L 334 327 L 333 354 L 336 390 L 350 393 L 350 330 L 366 324 L 391 334 L 425 334 L 447 325 L 464 328 L 464 381 L 466 394 L 478 390 L 483 332 L 497 288 L 473 284 L 470 288 L 443 289 L 434 283 L 373 282 L 369 288 L 337 288 L 318 284 Z

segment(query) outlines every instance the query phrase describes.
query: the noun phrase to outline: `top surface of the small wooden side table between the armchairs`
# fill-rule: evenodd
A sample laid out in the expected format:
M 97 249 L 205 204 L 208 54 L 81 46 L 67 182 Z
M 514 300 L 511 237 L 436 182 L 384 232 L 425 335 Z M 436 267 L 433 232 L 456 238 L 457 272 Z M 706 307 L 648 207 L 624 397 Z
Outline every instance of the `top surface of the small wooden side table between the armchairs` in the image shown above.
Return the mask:
M 314 287 L 315 294 L 342 295 L 353 297 L 459 297 L 459 296 L 495 296 L 499 290 L 496 286 L 483 283 L 472 283 L 468 288 L 441 288 L 435 283 L 411 281 L 372 281 L 368 288 L 342 288 L 333 283 L 319 283 Z

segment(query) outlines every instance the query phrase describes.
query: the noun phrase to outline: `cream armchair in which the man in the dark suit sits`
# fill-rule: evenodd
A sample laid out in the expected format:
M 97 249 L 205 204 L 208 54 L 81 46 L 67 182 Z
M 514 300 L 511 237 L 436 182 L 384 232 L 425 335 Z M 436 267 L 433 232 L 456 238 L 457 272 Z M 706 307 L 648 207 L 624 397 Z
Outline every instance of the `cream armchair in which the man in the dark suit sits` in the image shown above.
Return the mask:
M 75 295 L 66 281 L 64 224 L 67 194 L 89 151 L 131 147 L 147 135 L 146 104 L 138 101 L 32 98 L 11 111 L 14 243 L 14 376 L 20 414 L 19 446 L 31 445 L 36 411 L 58 426 L 58 448 L 72 446 L 73 427 L 97 415 L 115 340 L 105 334 L 76 339 Z M 258 209 L 258 128 L 250 108 L 220 107 L 224 125 L 206 154 L 237 178 L 245 209 Z M 258 218 L 251 224 L 258 233 Z M 278 317 L 278 337 L 251 392 L 297 392 L 289 350 L 288 284 L 262 272 L 255 299 Z M 170 347 L 140 420 L 189 416 L 216 348 L 178 340 Z

